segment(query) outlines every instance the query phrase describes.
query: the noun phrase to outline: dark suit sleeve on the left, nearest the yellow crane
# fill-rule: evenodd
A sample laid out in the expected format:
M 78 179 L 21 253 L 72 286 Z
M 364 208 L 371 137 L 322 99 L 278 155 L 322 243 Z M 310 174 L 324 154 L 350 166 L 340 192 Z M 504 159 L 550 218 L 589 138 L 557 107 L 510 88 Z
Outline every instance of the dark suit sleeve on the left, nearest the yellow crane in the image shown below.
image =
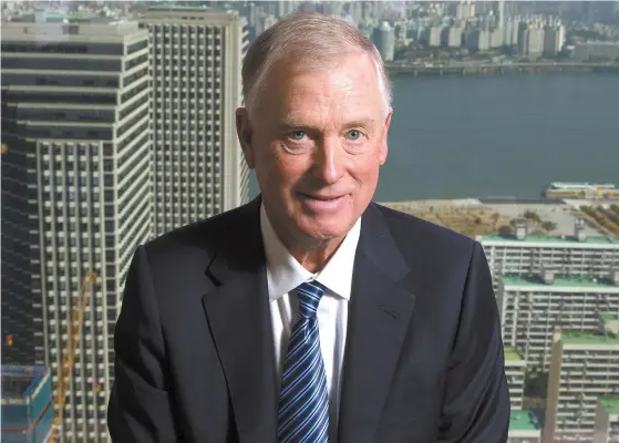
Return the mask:
M 130 266 L 114 333 L 114 385 L 107 409 L 112 442 L 175 442 L 165 350 L 144 247 Z

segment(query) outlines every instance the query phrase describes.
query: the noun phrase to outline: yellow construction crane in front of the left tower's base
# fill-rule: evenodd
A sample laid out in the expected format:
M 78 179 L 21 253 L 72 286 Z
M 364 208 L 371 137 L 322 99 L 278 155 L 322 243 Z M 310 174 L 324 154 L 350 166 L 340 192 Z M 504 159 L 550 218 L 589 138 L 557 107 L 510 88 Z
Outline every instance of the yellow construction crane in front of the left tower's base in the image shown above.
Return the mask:
M 80 343 L 82 334 L 82 324 L 84 322 L 84 312 L 89 306 L 89 298 L 92 286 L 99 278 L 96 272 L 87 272 L 82 279 L 82 288 L 80 300 L 73 307 L 71 312 L 71 322 L 66 327 L 66 344 L 62 349 L 62 363 L 58 368 L 58 388 L 54 395 L 54 418 L 52 422 L 52 432 L 49 443 L 56 442 L 62 418 L 64 413 L 64 403 L 66 401 L 66 391 L 73 375 L 73 367 L 75 365 L 75 351 Z

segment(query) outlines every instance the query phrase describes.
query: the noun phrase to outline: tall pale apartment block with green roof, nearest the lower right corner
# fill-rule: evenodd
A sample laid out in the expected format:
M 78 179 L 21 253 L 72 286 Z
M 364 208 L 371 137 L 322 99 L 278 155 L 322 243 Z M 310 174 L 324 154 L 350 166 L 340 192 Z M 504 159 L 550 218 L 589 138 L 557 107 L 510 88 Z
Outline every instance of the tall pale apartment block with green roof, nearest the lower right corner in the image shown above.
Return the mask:
M 619 395 L 619 334 L 600 317 L 596 333 L 555 332 L 545 442 L 591 441 L 599 399 Z

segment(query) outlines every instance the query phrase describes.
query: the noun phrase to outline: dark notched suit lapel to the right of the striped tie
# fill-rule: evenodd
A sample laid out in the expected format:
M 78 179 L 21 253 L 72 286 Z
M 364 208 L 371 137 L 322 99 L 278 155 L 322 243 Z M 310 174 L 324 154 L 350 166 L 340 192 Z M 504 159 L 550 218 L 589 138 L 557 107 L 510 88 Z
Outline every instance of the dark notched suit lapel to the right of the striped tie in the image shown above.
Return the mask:
M 414 296 L 398 281 L 411 270 L 380 209 L 363 214 L 354 262 L 340 402 L 340 443 L 375 435 L 413 312 Z

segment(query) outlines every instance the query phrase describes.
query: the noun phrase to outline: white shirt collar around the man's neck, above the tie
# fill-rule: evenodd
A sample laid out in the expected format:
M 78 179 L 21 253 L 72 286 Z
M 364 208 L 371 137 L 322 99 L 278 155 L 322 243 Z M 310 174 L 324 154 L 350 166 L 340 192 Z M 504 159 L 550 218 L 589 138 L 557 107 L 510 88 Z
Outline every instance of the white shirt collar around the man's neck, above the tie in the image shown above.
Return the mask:
M 336 295 L 350 300 L 354 255 L 361 234 L 361 217 L 324 268 L 312 274 L 297 261 L 280 241 L 269 222 L 265 206 L 260 205 L 260 230 L 267 258 L 269 300 L 274 301 L 305 281 L 318 280 Z

